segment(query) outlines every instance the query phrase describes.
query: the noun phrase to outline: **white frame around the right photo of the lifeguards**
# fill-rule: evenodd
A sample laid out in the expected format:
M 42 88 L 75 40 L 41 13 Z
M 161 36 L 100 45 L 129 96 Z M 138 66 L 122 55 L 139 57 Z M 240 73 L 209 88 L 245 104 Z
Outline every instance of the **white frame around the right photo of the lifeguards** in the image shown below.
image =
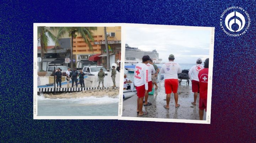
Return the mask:
M 181 122 L 181 123 L 196 123 L 196 124 L 210 124 L 211 117 L 211 102 L 212 102 L 212 80 L 213 80 L 213 53 L 214 53 L 214 27 L 194 27 L 194 26 L 179 26 L 179 25 L 155 25 L 155 24 L 125 24 L 122 29 L 122 49 L 121 51 L 125 51 L 125 34 L 126 27 L 137 27 L 137 28 L 162 28 L 162 29 L 182 29 L 182 30 L 209 30 L 210 33 L 210 45 L 209 45 L 209 72 L 208 72 L 208 93 L 207 93 L 207 112 L 206 112 L 206 120 L 188 120 L 188 119 L 162 119 L 162 118 L 143 118 L 143 117 L 123 117 L 122 116 L 122 104 L 123 102 L 119 102 L 119 112 L 118 112 L 118 120 L 135 120 L 135 121 L 157 121 L 157 122 Z M 124 41 L 123 41 L 124 40 Z M 122 63 L 124 63 L 124 56 L 122 54 Z M 124 65 L 123 65 L 124 66 Z M 123 69 L 124 67 L 122 67 Z M 124 70 L 122 70 L 124 72 Z M 123 75 L 123 74 L 122 74 Z M 120 75 L 121 76 L 121 75 Z M 120 78 L 120 83 L 121 78 Z M 121 87 L 121 85 L 120 85 Z M 120 88 L 120 91 L 123 89 Z M 121 96 L 120 96 L 121 98 Z M 123 97 L 122 97 L 123 98 Z M 119 99 L 119 101 L 123 101 L 123 99 Z M 121 109 L 121 110 L 120 110 Z M 198 114 L 199 116 L 199 114 Z

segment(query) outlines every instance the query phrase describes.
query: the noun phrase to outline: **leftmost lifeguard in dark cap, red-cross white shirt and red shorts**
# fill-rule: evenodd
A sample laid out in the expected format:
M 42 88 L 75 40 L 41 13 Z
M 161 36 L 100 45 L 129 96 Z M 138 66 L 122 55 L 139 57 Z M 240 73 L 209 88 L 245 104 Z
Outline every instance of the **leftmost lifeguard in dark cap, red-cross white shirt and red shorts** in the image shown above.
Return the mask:
M 148 64 L 149 57 L 143 56 L 142 63 L 137 63 L 134 70 L 134 85 L 137 90 L 137 114 L 148 114 L 142 111 L 143 98 L 148 91 Z

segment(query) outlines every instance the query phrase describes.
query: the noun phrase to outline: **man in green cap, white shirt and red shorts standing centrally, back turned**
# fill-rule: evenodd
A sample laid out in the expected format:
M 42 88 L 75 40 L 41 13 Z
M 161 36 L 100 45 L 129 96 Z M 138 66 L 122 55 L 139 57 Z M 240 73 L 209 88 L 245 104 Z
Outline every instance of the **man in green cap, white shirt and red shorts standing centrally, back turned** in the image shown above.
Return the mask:
M 174 93 L 175 107 L 180 107 L 178 104 L 178 73 L 181 73 L 181 68 L 178 63 L 174 62 L 174 55 L 169 56 L 169 62 L 165 63 L 161 68 L 161 73 L 165 74 L 165 93 L 166 93 L 166 105 L 164 108 L 169 109 L 169 103 L 171 93 Z

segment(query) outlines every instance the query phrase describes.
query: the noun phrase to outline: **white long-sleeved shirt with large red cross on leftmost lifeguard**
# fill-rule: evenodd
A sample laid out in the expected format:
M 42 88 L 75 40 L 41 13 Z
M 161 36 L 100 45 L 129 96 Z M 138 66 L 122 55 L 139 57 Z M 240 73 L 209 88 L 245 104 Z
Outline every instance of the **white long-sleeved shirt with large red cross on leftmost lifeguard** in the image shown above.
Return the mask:
M 148 66 L 144 63 L 137 63 L 134 69 L 134 85 L 145 85 L 145 90 L 148 90 Z

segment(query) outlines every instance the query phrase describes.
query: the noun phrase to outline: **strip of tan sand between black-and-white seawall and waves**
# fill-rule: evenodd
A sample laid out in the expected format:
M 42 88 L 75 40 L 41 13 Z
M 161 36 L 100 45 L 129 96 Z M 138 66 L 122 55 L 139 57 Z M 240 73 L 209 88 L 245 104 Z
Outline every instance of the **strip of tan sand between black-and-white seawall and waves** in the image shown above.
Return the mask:
M 87 91 L 81 91 L 81 92 L 67 92 L 67 93 L 61 93 L 57 95 L 51 94 L 44 94 L 43 96 L 45 98 L 51 98 L 51 99 L 70 99 L 70 98 L 82 98 L 82 97 L 116 97 L 119 95 L 119 88 L 108 88 L 108 89 L 99 89 L 99 90 L 87 90 Z

